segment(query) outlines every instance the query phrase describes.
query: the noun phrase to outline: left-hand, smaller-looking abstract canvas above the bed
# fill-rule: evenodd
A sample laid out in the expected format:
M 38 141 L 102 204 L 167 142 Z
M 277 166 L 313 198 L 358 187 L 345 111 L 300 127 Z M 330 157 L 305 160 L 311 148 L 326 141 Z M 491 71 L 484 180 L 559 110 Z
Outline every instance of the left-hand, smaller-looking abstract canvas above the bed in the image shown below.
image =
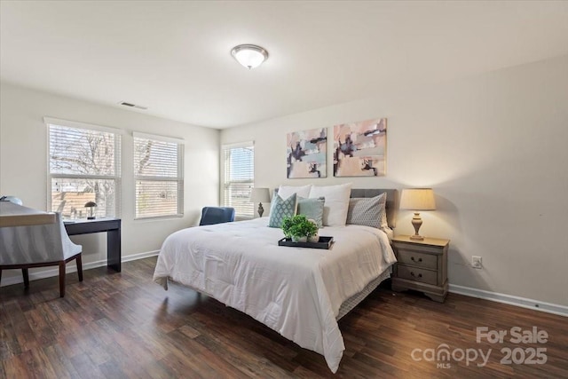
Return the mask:
M 288 133 L 287 178 L 327 177 L 327 129 Z

